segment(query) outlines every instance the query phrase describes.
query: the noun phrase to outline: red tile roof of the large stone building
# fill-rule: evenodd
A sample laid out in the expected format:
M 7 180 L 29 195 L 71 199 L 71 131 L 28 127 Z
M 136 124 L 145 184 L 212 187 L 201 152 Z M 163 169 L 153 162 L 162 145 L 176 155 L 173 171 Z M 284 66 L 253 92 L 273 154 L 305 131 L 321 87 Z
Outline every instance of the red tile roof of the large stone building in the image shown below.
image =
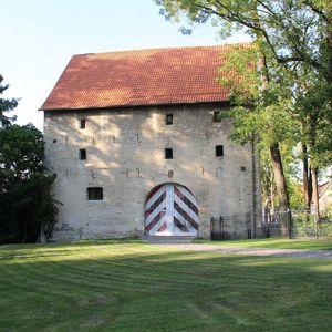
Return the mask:
M 250 44 L 240 44 L 247 48 Z M 231 45 L 74 55 L 41 110 L 186 104 L 228 100 L 216 79 Z

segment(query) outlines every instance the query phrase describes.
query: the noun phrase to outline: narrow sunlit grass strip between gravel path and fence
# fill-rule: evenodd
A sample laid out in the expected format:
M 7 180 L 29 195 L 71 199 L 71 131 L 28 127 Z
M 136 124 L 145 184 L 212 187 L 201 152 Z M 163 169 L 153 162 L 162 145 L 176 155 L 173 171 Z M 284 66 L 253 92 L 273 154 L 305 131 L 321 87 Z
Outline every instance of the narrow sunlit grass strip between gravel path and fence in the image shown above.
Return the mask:
M 209 243 L 216 246 L 235 246 L 249 248 L 277 248 L 277 249 L 305 249 L 305 250 L 332 250 L 332 239 L 329 240 L 302 240 L 302 239 L 250 239 L 250 240 L 227 240 L 209 241 L 195 240 L 196 243 Z

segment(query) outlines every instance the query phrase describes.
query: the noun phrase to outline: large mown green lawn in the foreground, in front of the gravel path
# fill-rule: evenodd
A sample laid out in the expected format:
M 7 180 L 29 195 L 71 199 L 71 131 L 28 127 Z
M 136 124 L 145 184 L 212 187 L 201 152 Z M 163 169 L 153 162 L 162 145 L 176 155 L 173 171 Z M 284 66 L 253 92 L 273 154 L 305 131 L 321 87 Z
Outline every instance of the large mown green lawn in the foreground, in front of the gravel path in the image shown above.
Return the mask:
M 0 331 L 331 331 L 332 261 L 0 246 Z

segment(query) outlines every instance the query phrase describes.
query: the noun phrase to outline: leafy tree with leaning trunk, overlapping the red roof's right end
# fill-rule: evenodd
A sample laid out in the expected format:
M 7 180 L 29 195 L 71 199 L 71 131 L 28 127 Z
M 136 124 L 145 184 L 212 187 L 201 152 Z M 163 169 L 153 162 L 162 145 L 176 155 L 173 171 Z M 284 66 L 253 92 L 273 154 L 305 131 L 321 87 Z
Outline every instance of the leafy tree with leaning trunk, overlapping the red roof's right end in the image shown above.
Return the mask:
M 271 66 L 266 65 L 256 70 L 256 64 L 261 61 L 260 54 L 259 48 L 252 44 L 245 49 L 234 46 L 232 52 L 224 55 L 227 59 L 226 65 L 220 69 L 220 82 L 230 89 L 234 105 L 230 112 L 224 114 L 234 118 L 232 139 L 241 144 L 253 139 L 261 157 L 269 156 L 270 160 L 266 164 L 273 172 L 281 230 L 284 236 L 290 236 L 290 198 L 280 149 L 282 144 L 293 144 L 298 126 L 289 113 L 291 90 L 288 89 L 287 73 L 281 75 L 278 72 L 277 76 Z M 273 203 L 270 197 L 268 200 L 270 205 Z

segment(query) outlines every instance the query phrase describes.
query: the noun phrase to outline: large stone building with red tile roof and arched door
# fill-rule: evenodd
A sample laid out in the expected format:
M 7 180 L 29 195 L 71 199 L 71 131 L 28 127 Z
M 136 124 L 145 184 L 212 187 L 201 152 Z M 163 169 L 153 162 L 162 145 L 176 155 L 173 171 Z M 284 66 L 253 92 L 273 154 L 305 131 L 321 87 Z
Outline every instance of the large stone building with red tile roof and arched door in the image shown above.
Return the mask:
M 246 45 L 243 45 L 245 48 Z M 259 162 L 229 141 L 229 46 L 74 55 L 44 111 L 54 240 L 261 234 Z

